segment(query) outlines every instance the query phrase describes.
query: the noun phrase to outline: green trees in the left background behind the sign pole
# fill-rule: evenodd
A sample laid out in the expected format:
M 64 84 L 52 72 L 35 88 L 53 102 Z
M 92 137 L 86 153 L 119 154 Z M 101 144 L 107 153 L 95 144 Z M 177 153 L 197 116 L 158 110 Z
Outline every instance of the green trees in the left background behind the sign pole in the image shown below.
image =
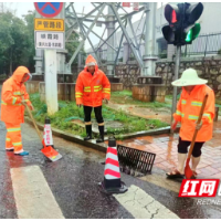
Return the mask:
M 34 17 L 35 13 L 24 15 L 24 20 L 12 12 L 0 13 L 0 74 L 8 76 L 20 65 L 27 66 L 31 73 L 35 71 L 34 55 Z M 72 33 L 66 43 L 66 62 L 70 61 L 80 44 L 80 36 Z M 81 53 L 85 55 L 84 49 Z M 72 70 L 76 61 L 72 64 Z

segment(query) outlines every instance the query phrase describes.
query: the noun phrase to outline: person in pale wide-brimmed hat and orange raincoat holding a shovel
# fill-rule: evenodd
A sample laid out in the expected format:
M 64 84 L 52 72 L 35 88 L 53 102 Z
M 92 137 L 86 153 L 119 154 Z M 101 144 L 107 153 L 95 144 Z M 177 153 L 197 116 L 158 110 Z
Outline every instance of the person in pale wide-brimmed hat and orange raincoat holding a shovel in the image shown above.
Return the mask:
M 189 69 L 182 73 L 180 80 L 172 82 L 173 86 L 182 86 L 182 93 L 173 115 L 172 129 L 181 123 L 179 145 L 178 145 L 178 169 L 167 173 L 168 178 L 185 178 L 185 162 L 187 159 L 188 147 L 193 138 L 194 130 L 198 129 L 194 148 L 192 151 L 191 179 L 197 178 L 197 167 L 201 158 L 201 148 L 206 141 L 212 139 L 213 118 L 214 118 L 214 93 L 207 86 L 207 80 L 198 77 L 194 70 Z M 206 94 L 209 94 L 202 122 L 197 124 L 200 109 Z

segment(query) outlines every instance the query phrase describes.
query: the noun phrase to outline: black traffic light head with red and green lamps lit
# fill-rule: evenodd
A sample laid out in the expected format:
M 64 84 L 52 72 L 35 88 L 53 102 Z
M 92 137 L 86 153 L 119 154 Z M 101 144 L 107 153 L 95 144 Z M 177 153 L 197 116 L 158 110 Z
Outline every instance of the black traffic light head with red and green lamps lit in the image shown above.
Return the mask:
M 201 27 L 196 22 L 201 17 L 202 11 L 202 3 L 192 6 L 190 3 L 167 4 L 165 18 L 169 25 L 162 28 L 162 34 L 168 44 L 191 44 L 200 33 Z

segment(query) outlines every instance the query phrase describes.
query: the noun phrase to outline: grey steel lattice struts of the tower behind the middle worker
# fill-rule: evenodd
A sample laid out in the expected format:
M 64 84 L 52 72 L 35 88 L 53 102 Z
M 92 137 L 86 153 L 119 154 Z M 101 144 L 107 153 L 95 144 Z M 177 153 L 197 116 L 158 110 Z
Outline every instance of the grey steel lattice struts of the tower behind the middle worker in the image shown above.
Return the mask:
M 76 12 L 77 9 L 75 9 L 74 2 L 66 2 L 65 21 L 69 27 L 69 29 L 66 30 L 66 41 L 69 41 L 69 39 L 73 32 L 78 33 L 82 39 L 77 50 L 75 51 L 75 53 L 73 54 L 73 56 L 71 57 L 71 60 L 67 63 L 67 69 L 71 67 L 71 65 L 74 62 L 74 60 L 76 59 L 77 54 L 84 46 L 84 43 L 86 40 L 90 42 L 92 50 L 93 50 L 93 52 L 97 59 L 97 62 L 99 64 L 102 64 L 102 61 L 98 55 L 98 52 L 102 49 L 102 46 L 106 44 L 108 50 L 114 52 L 115 57 L 113 57 L 113 64 L 117 65 L 119 52 L 120 52 L 120 49 L 124 43 L 123 42 L 124 38 L 128 42 L 139 67 L 143 69 L 144 62 L 143 62 L 143 57 L 141 57 L 141 53 L 140 53 L 141 40 L 137 39 L 137 35 L 136 35 L 137 30 L 134 29 L 131 19 L 135 14 L 139 13 L 140 11 L 144 11 L 143 17 L 140 18 L 140 22 L 141 22 L 141 19 L 144 18 L 144 14 L 146 11 L 146 7 L 141 7 L 139 9 L 139 11 L 133 11 L 129 13 L 122 7 L 122 2 L 90 2 L 90 3 L 92 4 L 91 12 L 88 12 L 87 14 L 83 14 L 83 13 Z M 107 10 L 108 12 L 106 12 L 106 8 L 108 9 Z M 112 13 L 109 13 L 109 9 L 112 9 Z M 112 18 L 112 19 L 109 20 L 109 18 Z M 90 25 L 88 25 L 88 23 L 90 23 Z M 97 23 L 106 25 L 103 34 L 101 34 L 101 35 L 97 34 L 93 30 L 95 24 L 97 24 Z M 108 29 L 110 27 L 109 24 L 114 25 L 114 29 L 112 27 L 112 30 L 114 30 L 113 32 L 112 31 L 108 32 Z M 129 25 L 133 38 L 127 32 L 127 25 Z M 139 27 L 140 27 L 140 23 L 139 23 L 138 28 Z M 116 32 L 118 30 L 122 30 L 122 36 L 119 39 L 118 44 L 117 44 L 117 42 L 115 44 L 113 44 L 114 35 L 116 34 Z M 106 31 L 107 31 L 107 38 L 104 39 Z M 92 33 L 96 38 L 99 39 L 99 43 L 98 43 L 97 48 L 95 48 L 95 45 L 93 44 L 93 41 L 91 40 L 90 35 Z M 143 28 L 141 35 L 144 35 L 144 33 L 145 33 L 145 24 Z

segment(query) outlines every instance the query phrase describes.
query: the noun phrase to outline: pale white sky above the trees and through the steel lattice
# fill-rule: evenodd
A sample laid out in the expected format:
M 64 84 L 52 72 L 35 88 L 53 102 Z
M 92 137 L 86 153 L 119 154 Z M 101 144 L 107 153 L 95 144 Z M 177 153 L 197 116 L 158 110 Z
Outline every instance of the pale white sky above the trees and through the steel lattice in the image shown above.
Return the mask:
M 167 2 L 164 2 L 164 4 L 167 3 Z M 34 2 L 1 2 L 0 3 L 1 8 L 2 6 L 4 8 L 9 8 L 11 10 L 14 10 L 15 11 L 15 14 L 19 17 L 19 18 L 22 18 L 23 14 L 28 14 L 29 10 L 35 10 L 34 9 Z M 84 13 L 87 13 L 91 11 L 91 2 L 75 2 L 74 4 L 74 8 L 76 10 L 76 12 L 78 13 L 82 13 L 83 10 L 84 10 Z M 158 2 L 158 8 L 161 6 L 161 2 Z M 133 11 L 133 9 L 127 9 L 127 11 Z M 139 13 L 138 15 L 136 15 L 134 18 L 134 21 L 137 21 L 139 20 L 141 17 L 141 14 Z M 90 25 L 90 24 L 87 24 Z M 104 25 L 103 28 L 98 28 L 98 27 L 95 27 L 93 29 L 97 34 L 101 34 L 103 33 L 103 30 L 104 30 Z M 93 38 L 93 43 L 94 44 L 97 44 L 99 42 L 99 40 L 96 38 L 96 36 L 92 36 Z M 88 41 L 86 41 L 85 43 L 85 49 L 88 49 L 91 48 Z

